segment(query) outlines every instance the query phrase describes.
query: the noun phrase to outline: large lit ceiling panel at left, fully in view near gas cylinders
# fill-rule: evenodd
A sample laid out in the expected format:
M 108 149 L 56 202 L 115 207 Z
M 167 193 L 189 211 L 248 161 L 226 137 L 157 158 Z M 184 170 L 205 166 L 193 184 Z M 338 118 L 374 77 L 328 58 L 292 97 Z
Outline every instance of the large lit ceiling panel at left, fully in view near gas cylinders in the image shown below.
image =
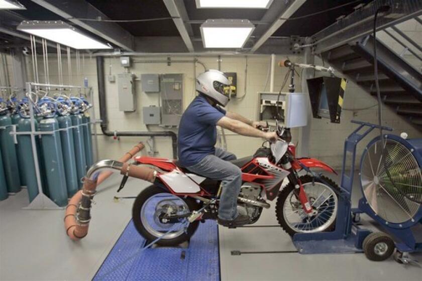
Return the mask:
M 61 21 L 24 21 L 17 29 L 78 50 L 112 49 Z

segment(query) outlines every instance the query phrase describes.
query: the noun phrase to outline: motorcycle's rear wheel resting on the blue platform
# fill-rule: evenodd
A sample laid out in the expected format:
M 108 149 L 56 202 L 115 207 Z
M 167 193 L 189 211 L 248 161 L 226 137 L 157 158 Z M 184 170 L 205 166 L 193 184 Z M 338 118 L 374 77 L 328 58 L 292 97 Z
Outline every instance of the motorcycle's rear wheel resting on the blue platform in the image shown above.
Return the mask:
M 132 219 L 136 230 L 148 241 L 161 246 L 176 246 L 188 241 L 198 228 L 199 221 L 190 223 L 185 229 L 180 219 L 177 223 L 163 222 L 162 217 L 168 215 L 185 215 L 198 209 L 192 198 L 180 198 L 157 186 L 149 186 L 135 199 L 132 207 Z M 169 230 L 171 232 L 167 233 Z M 163 234 L 167 233 L 163 236 Z

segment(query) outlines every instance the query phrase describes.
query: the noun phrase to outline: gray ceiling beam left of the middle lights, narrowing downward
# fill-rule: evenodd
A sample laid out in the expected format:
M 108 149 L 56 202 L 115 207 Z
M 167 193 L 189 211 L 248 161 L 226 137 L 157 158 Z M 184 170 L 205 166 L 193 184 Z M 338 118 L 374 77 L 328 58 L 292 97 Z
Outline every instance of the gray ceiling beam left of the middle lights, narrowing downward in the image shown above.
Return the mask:
M 176 0 L 163 0 L 164 4 L 167 7 L 167 10 L 171 17 L 173 17 L 173 22 L 176 25 L 177 30 L 182 37 L 183 42 L 186 45 L 186 48 L 189 52 L 193 52 L 192 41 L 190 40 L 189 32 L 186 29 L 185 21 L 188 21 L 186 9 L 184 7 L 183 1 Z

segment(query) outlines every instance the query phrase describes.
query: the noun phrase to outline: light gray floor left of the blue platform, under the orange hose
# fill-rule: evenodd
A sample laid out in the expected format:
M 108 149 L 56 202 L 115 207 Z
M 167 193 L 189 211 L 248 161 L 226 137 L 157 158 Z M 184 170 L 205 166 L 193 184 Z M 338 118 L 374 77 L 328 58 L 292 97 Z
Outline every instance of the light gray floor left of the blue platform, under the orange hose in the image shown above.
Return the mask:
M 121 176 L 98 187 L 88 235 L 71 241 L 64 210 L 22 210 L 26 190 L 0 202 L 0 280 L 90 280 L 131 219 L 133 199 L 116 203 Z M 136 196 L 147 182 L 131 179 L 118 196 Z

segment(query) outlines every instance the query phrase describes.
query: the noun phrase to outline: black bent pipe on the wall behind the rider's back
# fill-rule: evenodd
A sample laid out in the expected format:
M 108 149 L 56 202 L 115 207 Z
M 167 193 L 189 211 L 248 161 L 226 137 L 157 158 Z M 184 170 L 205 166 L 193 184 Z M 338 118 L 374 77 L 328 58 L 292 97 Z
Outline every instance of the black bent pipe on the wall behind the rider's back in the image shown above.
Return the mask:
M 190 61 L 192 62 L 192 61 Z M 108 130 L 108 113 L 107 99 L 105 97 L 105 76 L 104 76 L 104 58 L 96 57 L 97 79 L 98 79 L 98 103 L 99 116 L 101 121 L 100 127 L 104 135 L 107 136 L 170 136 L 173 148 L 173 158 L 177 159 L 177 135 L 173 131 L 111 131 Z

